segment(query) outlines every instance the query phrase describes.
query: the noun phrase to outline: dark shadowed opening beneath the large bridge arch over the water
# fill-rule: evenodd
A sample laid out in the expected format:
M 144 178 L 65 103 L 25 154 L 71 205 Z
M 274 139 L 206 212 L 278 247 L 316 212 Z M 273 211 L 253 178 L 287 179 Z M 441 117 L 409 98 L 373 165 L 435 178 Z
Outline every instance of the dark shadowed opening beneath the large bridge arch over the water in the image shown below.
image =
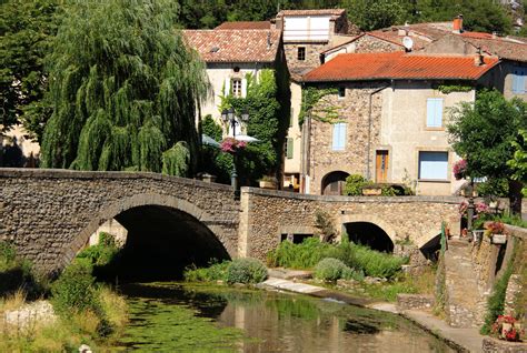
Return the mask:
M 128 231 L 116 260 L 96 269 L 113 281 L 180 280 L 186 266 L 206 266 L 213 259 L 229 260 L 218 238 L 199 220 L 177 209 L 143 205 L 115 219 Z

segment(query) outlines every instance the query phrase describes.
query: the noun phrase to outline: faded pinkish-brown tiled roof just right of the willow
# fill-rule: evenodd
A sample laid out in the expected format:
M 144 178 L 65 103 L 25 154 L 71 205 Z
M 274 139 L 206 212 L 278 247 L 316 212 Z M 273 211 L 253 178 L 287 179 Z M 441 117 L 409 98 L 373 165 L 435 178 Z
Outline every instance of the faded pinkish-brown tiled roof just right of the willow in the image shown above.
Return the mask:
M 183 30 L 182 33 L 205 62 L 274 62 L 280 44 L 279 30 Z

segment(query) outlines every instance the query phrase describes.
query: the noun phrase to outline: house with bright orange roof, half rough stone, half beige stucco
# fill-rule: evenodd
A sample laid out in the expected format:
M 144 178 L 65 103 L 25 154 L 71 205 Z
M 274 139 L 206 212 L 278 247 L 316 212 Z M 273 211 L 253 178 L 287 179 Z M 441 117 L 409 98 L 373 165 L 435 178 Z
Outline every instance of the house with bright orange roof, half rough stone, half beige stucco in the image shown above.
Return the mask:
M 305 87 L 334 89 L 304 124 L 302 190 L 339 194 L 349 174 L 407 183 L 417 194 L 446 195 L 460 182 L 451 168 L 448 110 L 475 100 L 498 58 L 405 53 L 339 54 L 302 78 Z M 441 87 L 460 84 L 459 92 Z

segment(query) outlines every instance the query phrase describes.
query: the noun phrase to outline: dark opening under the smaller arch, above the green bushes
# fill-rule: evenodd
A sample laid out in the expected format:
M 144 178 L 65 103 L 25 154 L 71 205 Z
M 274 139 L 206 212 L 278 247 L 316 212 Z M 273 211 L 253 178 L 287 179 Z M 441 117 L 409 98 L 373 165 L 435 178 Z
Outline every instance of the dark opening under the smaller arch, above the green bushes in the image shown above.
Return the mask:
M 345 226 L 349 240 L 354 243 L 381 252 L 394 252 L 394 242 L 380 226 L 370 222 L 351 222 Z

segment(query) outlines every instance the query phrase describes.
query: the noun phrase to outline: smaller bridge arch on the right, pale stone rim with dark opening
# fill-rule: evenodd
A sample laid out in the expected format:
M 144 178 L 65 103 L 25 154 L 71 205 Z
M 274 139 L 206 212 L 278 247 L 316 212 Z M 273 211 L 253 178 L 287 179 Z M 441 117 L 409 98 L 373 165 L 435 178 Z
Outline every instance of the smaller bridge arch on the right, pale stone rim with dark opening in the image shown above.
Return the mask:
M 394 251 L 397 233 L 389 222 L 372 214 L 345 214 L 340 218 L 340 224 L 342 225 L 342 230 L 346 230 L 348 233 L 352 231 L 354 228 L 375 233 L 375 238 L 359 236 L 358 239 L 354 239 L 354 236 L 356 236 L 355 234 L 348 234 L 350 240 L 370 243 L 370 246 L 375 250 L 386 252 Z

